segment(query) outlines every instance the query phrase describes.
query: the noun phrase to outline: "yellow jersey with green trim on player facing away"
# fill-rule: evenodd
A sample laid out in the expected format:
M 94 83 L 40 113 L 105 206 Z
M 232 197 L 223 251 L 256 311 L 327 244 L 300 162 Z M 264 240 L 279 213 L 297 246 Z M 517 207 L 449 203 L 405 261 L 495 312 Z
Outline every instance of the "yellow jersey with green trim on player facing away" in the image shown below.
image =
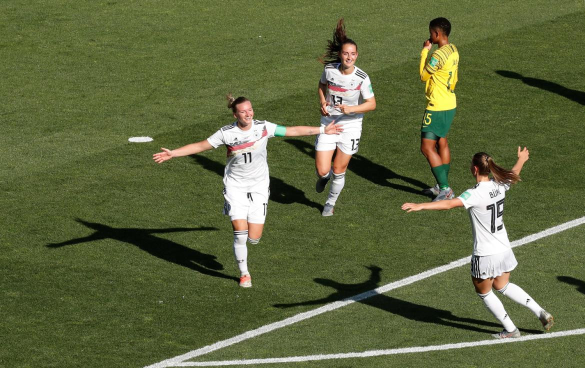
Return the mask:
M 422 49 L 419 72 L 421 80 L 426 81 L 425 97 L 427 110 L 442 111 L 457 107 L 455 85 L 457 84 L 457 67 L 459 51 L 454 44 L 445 44 L 431 54 L 426 61 L 429 50 Z

